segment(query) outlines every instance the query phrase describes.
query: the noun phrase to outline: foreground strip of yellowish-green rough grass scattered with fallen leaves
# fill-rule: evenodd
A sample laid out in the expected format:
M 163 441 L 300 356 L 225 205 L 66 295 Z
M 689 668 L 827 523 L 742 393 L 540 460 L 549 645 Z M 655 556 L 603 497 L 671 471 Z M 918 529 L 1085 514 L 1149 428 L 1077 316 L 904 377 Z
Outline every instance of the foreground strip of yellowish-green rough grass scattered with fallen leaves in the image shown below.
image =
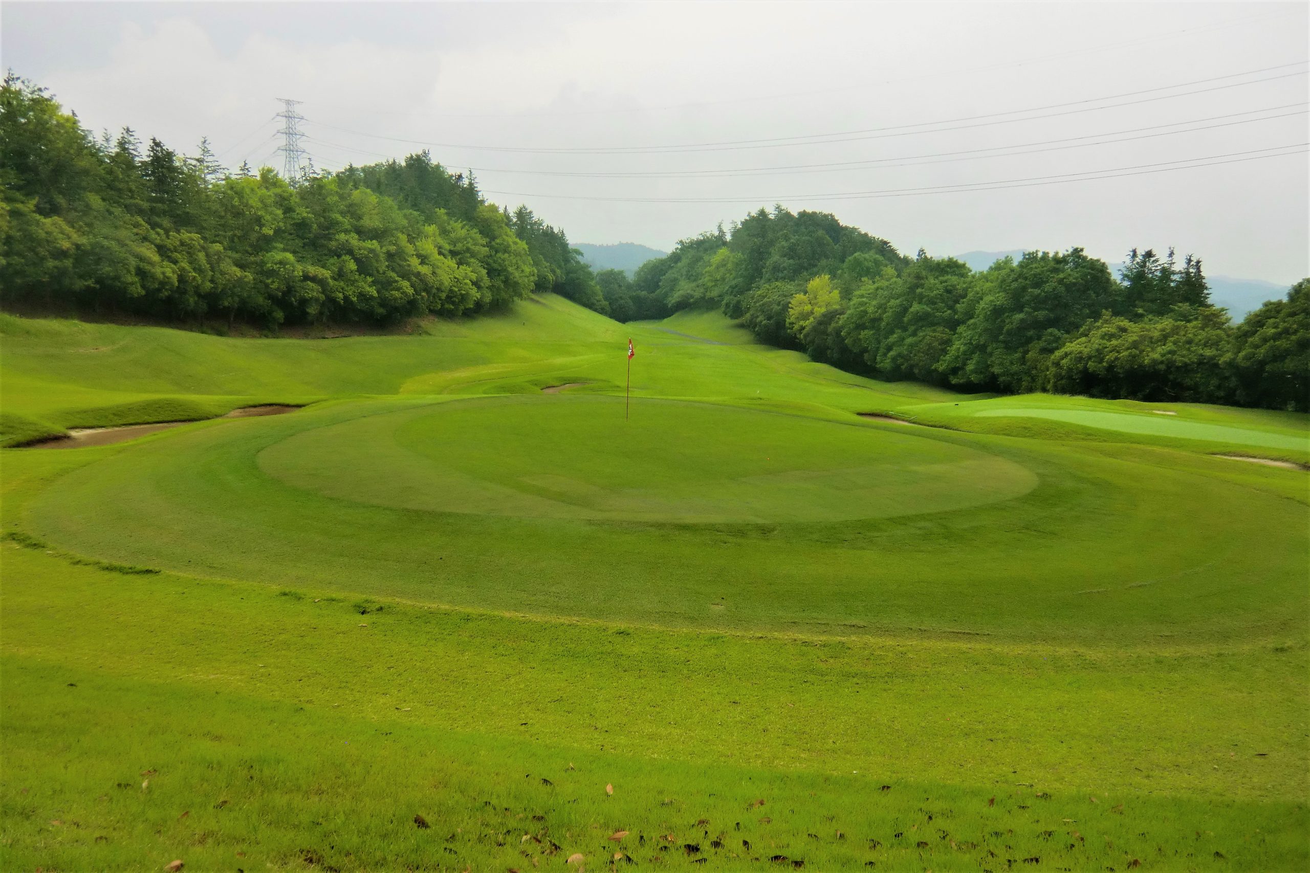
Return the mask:
M 673 834 L 668 863 L 730 869 L 765 847 L 819 869 L 1307 860 L 1305 806 L 1281 800 L 1305 767 L 1288 694 L 1303 647 L 861 644 L 396 603 L 362 616 L 314 592 L 123 579 L 9 550 L 7 635 L 25 644 L 4 665 L 3 802 L 24 866 L 208 869 L 245 851 L 295 868 L 310 848 L 377 869 L 451 846 L 462 869 L 549 852 L 523 834 L 554 839 L 561 855 L 542 861 L 558 864 L 600 860 L 616 830 L 646 836 L 622 846 L 638 861 Z M 54 615 L 79 635 L 41 640 Z M 67 775 L 51 779 L 56 766 Z

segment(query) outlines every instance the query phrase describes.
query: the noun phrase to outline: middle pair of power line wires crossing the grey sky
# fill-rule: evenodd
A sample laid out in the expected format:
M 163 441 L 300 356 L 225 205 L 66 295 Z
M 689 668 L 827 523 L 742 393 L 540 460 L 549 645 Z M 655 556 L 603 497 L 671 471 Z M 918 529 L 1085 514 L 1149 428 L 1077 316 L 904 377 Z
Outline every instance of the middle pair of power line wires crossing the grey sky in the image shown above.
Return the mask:
M 934 152 L 926 154 L 905 154 L 899 157 L 886 157 L 886 158 L 863 158 L 859 161 L 837 161 L 827 164 L 791 164 L 782 166 L 764 166 L 764 168 L 728 168 L 723 170 L 654 170 L 654 171 L 626 171 L 626 173 L 591 173 L 586 170 L 523 170 L 523 169 L 506 169 L 506 168 L 489 168 L 489 166 L 474 166 L 469 168 L 477 173 L 512 173 L 523 175 L 549 175 L 549 177 L 566 177 L 566 178 L 613 178 L 613 179 L 679 179 L 679 178 L 734 178 L 734 177 L 756 177 L 756 175 L 778 175 L 778 174 L 798 174 L 798 173 L 832 173 L 841 170 L 855 170 L 855 169 L 891 169 L 899 166 L 921 166 L 925 164 L 948 164 L 954 161 L 971 161 L 984 157 L 1014 157 L 1019 154 L 1036 154 L 1039 152 L 1058 152 L 1073 148 L 1087 148 L 1091 145 L 1112 145 L 1115 143 L 1129 143 L 1134 140 L 1153 139 L 1159 136 L 1174 136 L 1178 134 L 1193 134 L 1197 131 L 1209 131 L 1222 127 L 1234 127 L 1238 124 L 1252 124 L 1255 122 L 1268 122 L 1280 118 L 1292 118 L 1296 115 L 1305 115 L 1306 110 L 1301 109 L 1294 113 L 1282 113 L 1279 115 L 1264 115 L 1262 118 L 1248 118 L 1238 122 L 1224 122 L 1220 124 L 1205 124 L 1203 127 L 1188 127 L 1184 130 L 1174 131 L 1161 131 L 1165 127 L 1180 127 L 1183 124 L 1200 124 L 1201 122 L 1222 120 L 1229 118 L 1237 118 L 1239 115 L 1254 115 L 1256 113 L 1272 113 L 1282 109 L 1293 109 L 1305 106 L 1305 102 L 1300 103 L 1285 103 L 1282 106 L 1271 106 L 1265 109 L 1252 109 L 1244 113 L 1229 113 L 1226 115 L 1212 115 L 1209 118 L 1199 118 L 1187 122 L 1172 122 L 1169 124 L 1151 124 L 1148 127 L 1136 127 L 1123 131 L 1110 131 L 1103 134 L 1089 134 L 1085 136 L 1069 136 L 1064 139 L 1055 140 L 1040 140 L 1035 143 L 1017 143 L 1013 145 L 996 145 L 980 149 L 963 149 L 955 152 Z M 1142 134 L 1142 131 L 1157 131 L 1153 134 Z M 1140 134 L 1138 136 L 1123 136 L 1124 134 Z M 1119 139 L 1098 139 L 1104 136 L 1117 136 Z M 342 145 L 339 143 L 329 143 L 321 140 L 316 136 L 307 136 L 314 143 L 326 145 L 329 148 L 342 149 L 345 152 L 356 152 L 360 154 L 371 154 L 376 157 L 392 158 L 393 156 L 385 154 L 383 152 L 371 152 L 368 149 L 359 149 L 350 145 Z M 1078 141 L 1078 140 L 1096 140 L 1091 143 Z M 1048 147 L 1048 148 L 1036 148 Z M 1010 149 L 1026 149 L 1026 151 L 1010 151 Z M 993 152 L 988 154 L 988 152 Z M 941 158 L 941 160 L 937 160 Z M 895 164 L 893 161 L 913 161 L 912 164 Z

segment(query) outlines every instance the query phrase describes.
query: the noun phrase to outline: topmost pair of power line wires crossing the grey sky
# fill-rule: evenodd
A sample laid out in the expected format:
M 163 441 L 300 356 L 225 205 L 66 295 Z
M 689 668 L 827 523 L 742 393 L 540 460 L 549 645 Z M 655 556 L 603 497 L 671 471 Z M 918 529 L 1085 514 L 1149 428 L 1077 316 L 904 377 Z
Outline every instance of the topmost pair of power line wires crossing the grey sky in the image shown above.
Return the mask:
M 1106 106 L 1086 106 L 1086 103 L 1096 103 L 1110 99 L 1119 99 L 1121 97 L 1136 97 L 1140 94 L 1149 94 L 1161 90 L 1172 90 L 1176 88 L 1187 88 L 1191 85 L 1201 85 L 1213 81 L 1220 81 L 1224 79 L 1235 79 L 1239 76 L 1252 76 L 1263 72 L 1272 72 L 1277 69 L 1286 69 L 1289 67 L 1300 67 L 1307 62 L 1300 60 L 1290 64 L 1279 64 L 1276 67 L 1264 67 L 1260 69 L 1251 69 L 1241 73 L 1229 73 L 1227 76 L 1214 76 L 1210 79 L 1199 79 L 1189 82 L 1178 82 L 1174 85 L 1162 85 L 1159 88 L 1148 88 L 1136 92 L 1125 92 L 1121 94 L 1110 94 L 1106 97 L 1093 97 L 1086 99 L 1069 101 L 1064 103 L 1051 103 L 1047 106 L 1035 106 L 1030 109 L 1015 109 L 1000 113 L 989 113 L 985 115 L 968 115 L 962 118 L 942 119 L 937 122 L 918 122 L 914 124 L 896 124 L 889 127 L 866 128 L 858 131 L 837 131 L 831 134 L 808 134 L 798 136 L 779 136 L 769 139 L 753 139 L 753 140 L 722 140 L 714 143 L 689 143 L 683 145 L 629 145 L 629 147 L 608 147 L 608 148 L 529 148 L 529 147 L 508 147 L 508 145 L 461 145 L 456 143 L 428 143 L 424 140 L 411 140 L 398 136 L 384 136 L 381 134 L 368 134 L 364 131 L 354 131 L 346 127 L 337 127 L 334 124 L 326 124 L 317 122 L 321 127 L 329 130 L 342 131 L 345 134 L 352 134 L 356 136 L 368 136 L 371 139 L 390 140 L 394 143 L 407 143 L 411 145 L 426 145 L 430 148 L 449 148 L 449 149 L 466 149 L 466 151 L 486 151 L 486 152 L 515 152 L 515 153 L 533 153 L 533 154 L 669 154 L 680 152 L 723 152 L 723 151 L 744 151 L 744 149 L 760 149 L 760 148 L 785 148 L 791 145 L 827 145 L 831 143 L 850 143 L 857 140 L 871 140 L 871 139 L 887 139 L 896 136 L 913 136 L 917 134 L 941 134 L 947 131 L 958 130 L 971 130 L 977 127 L 990 127 L 996 124 L 1013 124 L 1017 122 L 1031 122 L 1043 118 L 1056 118 L 1061 115 L 1074 115 L 1079 113 L 1094 113 L 1106 109 L 1117 109 L 1121 106 L 1136 106 L 1140 103 L 1150 103 L 1162 99 L 1174 99 L 1178 97 L 1189 97 L 1192 94 L 1205 94 L 1217 90 L 1226 90 L 1230 88 L 1242 88 L 1246 85 L 1258 85 L 1267 81 L 1276 81 L 1281 79 L 1290 79 L 1296 76 L 1305 76 L 1306 71 L 1298 71 L 1293 73 L 1281 73 L 1277 76 L 1267 76 L 1264 79 L 1254 79 L 1250 81 L 1229 82 L 1226 85 L 1214 85 L 1210 88 L 1200 88 L 1189 92 L 1182 92 L 1178 94 L 1157 94 L 1155 97 L 1146 97 L 1142 99 L 1124 101 L 1119 103 L 1110 103 Z M 1077 107 L 1077 109 L 1064 109 L 1064 107 Z M 1064 109 L 1058 113 L 1045 113 L 1051 109 Z M 1041 115 L 1027 115 L 1024 118 L 1001 118 L 1005 115 L 1023 115 L 1027 113 L 1045 113 Z M 993 119 L 993 120 L 982 120 Z M 959 124 L 958 122 L 979 122 L 976 124 Z M 941 127 L 942 124 L 951 124 L 951 127 Z M 924 128 L 931 127 L 933 130 L 910 130 L 910 128 Z M 840 137 L 840 139 L 834 139 Z

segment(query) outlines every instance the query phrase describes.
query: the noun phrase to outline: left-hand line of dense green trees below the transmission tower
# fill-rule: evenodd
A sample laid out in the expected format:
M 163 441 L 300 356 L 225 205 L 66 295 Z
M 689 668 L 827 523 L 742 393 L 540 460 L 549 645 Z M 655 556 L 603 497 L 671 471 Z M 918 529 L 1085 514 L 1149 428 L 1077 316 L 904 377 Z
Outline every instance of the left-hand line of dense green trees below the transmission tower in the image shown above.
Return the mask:
M 0 88 L 0 298 L 199 322 L 386 323 L 555 292 L 608 313 L 565 233 L 489 204 L 423 152 L 287 181 L 100 137 L 45 89 Z

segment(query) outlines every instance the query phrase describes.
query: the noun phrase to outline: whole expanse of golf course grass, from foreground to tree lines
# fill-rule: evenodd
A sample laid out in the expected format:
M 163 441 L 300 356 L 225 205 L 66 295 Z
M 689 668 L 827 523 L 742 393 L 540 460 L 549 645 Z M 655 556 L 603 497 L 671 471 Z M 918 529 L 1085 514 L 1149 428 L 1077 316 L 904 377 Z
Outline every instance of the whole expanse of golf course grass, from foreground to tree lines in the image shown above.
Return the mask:
M 0 866 L 1310 865 L 1307 475 L 973 412 L 1305 416 L 882 383 L 711 313 L 424 330 L 0 319 L 26 420 L 321 401 L 0 453 Z

